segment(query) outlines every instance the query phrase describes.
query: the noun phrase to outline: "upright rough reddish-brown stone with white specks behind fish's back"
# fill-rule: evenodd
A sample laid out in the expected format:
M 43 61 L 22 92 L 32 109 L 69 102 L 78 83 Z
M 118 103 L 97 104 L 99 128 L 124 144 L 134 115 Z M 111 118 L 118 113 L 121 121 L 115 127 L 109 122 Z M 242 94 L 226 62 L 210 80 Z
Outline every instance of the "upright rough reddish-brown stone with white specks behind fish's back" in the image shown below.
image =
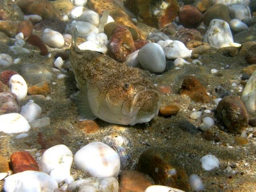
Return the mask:
M 125 26 L 117 26 L 110 38 L 109 54 L 118 62 L 124 62 L 126 57 L 135 51 L 132 34 Z

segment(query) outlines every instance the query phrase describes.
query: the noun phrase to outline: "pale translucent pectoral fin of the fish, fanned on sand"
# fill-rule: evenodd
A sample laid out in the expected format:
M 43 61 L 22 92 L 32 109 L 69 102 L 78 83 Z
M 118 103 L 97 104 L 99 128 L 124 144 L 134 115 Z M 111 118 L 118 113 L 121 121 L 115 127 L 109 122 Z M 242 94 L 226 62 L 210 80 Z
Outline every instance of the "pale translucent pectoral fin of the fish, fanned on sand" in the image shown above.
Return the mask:
M 74 95 L 72 95 L 71 98 L 75 101 L 78 113 L 82 120 L 94 120 L 97 118 L 92 113 L 86 92 L 78 91 Z

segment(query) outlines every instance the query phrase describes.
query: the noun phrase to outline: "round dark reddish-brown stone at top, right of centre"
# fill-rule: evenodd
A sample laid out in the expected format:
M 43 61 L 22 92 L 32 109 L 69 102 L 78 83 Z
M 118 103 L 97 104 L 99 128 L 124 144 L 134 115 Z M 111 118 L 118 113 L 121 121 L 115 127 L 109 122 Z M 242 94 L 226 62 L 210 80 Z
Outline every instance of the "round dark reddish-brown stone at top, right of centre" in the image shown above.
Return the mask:
M 197 28 L 203 20 L 201 12 L 191 6 L 185 5 L 180 9 L 179 22 L 186 28 Z

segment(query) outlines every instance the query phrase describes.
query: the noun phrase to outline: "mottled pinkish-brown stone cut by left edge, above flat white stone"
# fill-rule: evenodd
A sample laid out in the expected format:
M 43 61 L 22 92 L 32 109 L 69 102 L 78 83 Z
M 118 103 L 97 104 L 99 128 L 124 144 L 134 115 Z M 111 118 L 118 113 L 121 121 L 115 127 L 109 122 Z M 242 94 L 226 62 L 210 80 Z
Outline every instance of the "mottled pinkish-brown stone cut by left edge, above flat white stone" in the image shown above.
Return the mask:
M 0 114 L 20 112 L 20 102 L 12 92 L 0 92 Z

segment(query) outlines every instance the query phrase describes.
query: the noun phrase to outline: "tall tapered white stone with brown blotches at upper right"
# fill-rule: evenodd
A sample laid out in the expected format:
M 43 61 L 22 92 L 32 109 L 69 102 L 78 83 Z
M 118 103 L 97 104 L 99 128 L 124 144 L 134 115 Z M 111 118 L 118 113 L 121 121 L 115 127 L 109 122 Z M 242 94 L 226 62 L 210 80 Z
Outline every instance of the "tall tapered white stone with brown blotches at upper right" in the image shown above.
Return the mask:
M 229 24 L 221 19 L 213 19 L 204 35 L 204 42 L 215 48 L 219 48 L 223 43 L 234 42 Z

